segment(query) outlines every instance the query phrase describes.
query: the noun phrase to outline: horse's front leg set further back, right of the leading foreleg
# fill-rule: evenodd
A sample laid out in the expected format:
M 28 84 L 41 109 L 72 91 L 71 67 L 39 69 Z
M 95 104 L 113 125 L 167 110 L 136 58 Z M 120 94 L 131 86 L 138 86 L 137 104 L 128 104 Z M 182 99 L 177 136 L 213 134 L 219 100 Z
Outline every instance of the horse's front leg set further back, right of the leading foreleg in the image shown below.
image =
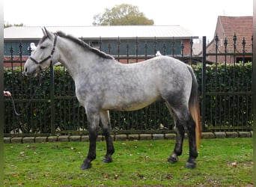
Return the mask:
M 104 163 L 112 162 L 112 154 L 115 153 L 113 140 L 111 137 L 111 124 L 109 118 L 109 111 L 100 111 L 100 120 L 103 125 L 103 135 L 106 139 L 106 156 L 103 159 Z

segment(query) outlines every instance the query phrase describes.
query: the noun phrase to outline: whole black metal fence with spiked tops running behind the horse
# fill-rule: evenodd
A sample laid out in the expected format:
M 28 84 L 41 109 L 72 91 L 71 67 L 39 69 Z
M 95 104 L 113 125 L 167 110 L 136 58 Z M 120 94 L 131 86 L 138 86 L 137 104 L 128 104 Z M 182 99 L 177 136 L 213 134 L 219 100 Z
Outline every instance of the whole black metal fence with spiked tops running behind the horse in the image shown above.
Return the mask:
M 202 54 L 195 57 L 192 56 L 192 44 L 191 41 L 189 49 L 191 55 L 187 57 L 179 55 L 177 58 L 191 64 L 198 64 L 194 70 L 200 85 L 203 130 L 252 130 L 252 74 L 248 76 L 250 72 L 252 73 L 252 62 L 246 61 L 252 58 L 252 50 L 243 52 L 235 50 L 235 53 L 219 52 L 218 40 L 216 40 L 216 52 L 207 53 L 204 37 Z M 225 45 L 237 47 L 236 43 L 228 43 L 228 41 Z M 243 45 L 245 49 L 246 44 Z M 252 49 L 252 43 L 248 45 Z M 183 47 L 180 46 L 180 49 L 183 50 Z M 43 72 L 41 78 L 25 77 L 22 75 L 22 66 L 26 57 L 22 55 L 22 47 L 19 48 L 19 57 L 13 57 L 12 50 L 10 49 L 10 59 L 4 62 L 4 88 L 11 91 L 17 110 L 25 111 L 16 116 L 12 100 L 5 97 L 4 136 L 87 134 L 88 123 L 85 110 L 76 99 L 73 80 L 65 68 L 52 67 L 51 70 Z M 156 49 L 153 50 L 156 51 Z M 138 57 L 138 55 L 129 55 L 128 52 L 129 50 L 126 56 L 117 55 L 115 58 L 129 63 L 154 56 L 145 54 Z M 172 56 L 175 57 L 175 55 Z M 215 58 L 212 61 L 213 65 L 207 64 L 209 61 L 207 58 L 210 56 Z M 228 58 L 231 57 L 240 58 L 242 61 L 229 63 Z M 219 65 L 219 58 L 225 59 L 221 65 Z M 31 99 L 40 79 L 43 80 L 42 84 Z M 28 102 L 29 105 L 26 107 Z M 115 134 L 174 132 L 171 116 L 162 102 L 156 102 L 138 111 L 111 111 L 110 116 Z

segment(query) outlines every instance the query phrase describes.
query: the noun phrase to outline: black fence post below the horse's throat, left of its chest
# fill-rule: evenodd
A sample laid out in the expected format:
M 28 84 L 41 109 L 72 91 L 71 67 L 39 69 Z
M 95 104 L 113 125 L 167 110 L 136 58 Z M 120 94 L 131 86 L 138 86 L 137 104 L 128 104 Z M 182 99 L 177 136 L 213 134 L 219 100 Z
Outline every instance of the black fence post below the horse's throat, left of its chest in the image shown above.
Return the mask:
M 50 67 L 51 134 L 55 135 L 54 69 Z

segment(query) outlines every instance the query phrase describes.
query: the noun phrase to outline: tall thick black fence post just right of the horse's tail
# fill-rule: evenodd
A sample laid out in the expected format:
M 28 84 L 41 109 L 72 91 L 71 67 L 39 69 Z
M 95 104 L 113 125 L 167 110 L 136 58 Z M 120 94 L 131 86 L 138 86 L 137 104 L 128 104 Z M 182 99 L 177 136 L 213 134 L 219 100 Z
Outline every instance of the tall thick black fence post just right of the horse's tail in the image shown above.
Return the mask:
M 201 94 L 202 94 L 202 102 L 201 102 L 201 126 L 203 132 L 205 129 L 205 92 L 206 92 L 206 37 L 203 37 L 203 57 L 202 57 L 203 67 L 202 67 L 202 79 L 201 79 Z

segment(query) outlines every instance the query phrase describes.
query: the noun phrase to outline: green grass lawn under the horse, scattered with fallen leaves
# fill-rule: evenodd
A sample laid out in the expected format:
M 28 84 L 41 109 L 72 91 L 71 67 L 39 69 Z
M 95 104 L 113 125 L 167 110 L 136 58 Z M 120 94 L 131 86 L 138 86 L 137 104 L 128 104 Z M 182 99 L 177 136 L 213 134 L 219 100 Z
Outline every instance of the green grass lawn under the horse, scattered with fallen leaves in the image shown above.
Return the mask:
M 246 186 L 252 184 L 252 138 L 201 140 L 197 168 L 185 168 L 188 141 L 179 162 L 168 156 L 174 141 L 115 141 L 113 162 L 97 159 L 80 170 L 88 142 L 4 144 L 4 186 Z

